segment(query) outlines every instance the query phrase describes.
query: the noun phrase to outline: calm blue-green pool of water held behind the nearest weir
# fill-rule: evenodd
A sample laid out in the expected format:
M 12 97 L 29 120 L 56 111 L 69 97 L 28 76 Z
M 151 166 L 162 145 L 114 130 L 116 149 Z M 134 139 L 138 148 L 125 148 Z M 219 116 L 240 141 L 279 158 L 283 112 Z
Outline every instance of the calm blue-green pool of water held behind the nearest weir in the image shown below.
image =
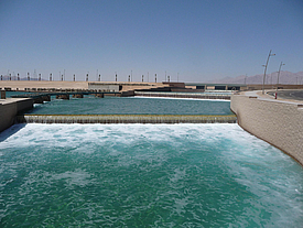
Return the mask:
M 137 97 L 55 99 L 36 105 L 29 113 L 40 115 L 231 115 L 223 100 L 161 99 Z

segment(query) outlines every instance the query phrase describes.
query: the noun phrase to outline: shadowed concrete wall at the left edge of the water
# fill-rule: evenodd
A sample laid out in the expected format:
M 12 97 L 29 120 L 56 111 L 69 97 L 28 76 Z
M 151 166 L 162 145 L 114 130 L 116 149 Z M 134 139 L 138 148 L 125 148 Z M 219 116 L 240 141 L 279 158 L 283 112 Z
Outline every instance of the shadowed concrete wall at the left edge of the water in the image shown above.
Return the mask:
M 10 98 L 0 100 L 0 132 L 14 123 L 19 111 L 33 107 L 33 100 L 29 98 Z

